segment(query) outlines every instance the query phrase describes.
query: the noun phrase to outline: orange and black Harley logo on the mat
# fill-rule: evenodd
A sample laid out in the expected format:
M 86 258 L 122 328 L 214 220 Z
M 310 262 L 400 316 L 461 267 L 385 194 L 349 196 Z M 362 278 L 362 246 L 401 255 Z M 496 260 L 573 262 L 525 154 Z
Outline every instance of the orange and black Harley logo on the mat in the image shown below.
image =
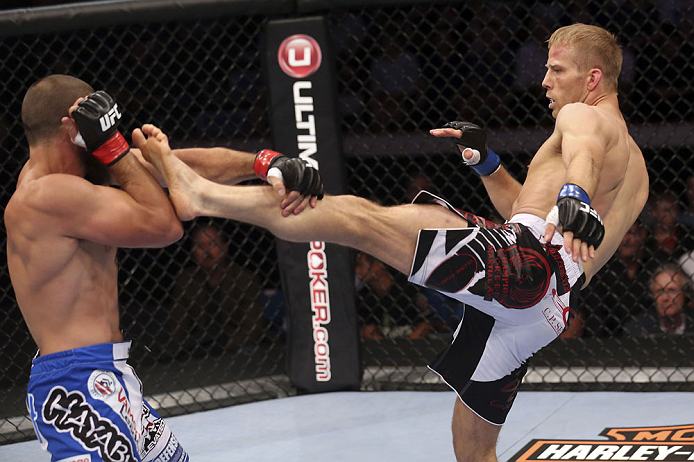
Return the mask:
M 532 440 L 510 461 L 694 460 L 694 424 L 606 428 L 608 441 Z

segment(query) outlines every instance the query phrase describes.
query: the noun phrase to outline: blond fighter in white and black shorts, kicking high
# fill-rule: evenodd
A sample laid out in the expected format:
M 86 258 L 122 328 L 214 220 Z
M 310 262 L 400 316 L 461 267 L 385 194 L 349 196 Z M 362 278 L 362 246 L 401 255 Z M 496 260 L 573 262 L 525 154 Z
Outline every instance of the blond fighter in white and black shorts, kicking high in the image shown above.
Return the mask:
M 488 149 L 478 126 L 453 122 L 431 132 L 455 137 L 503 225 L 427 193 L 395 207 L 328 196 L 283 219 L 268 211 L 276 200 L 270 188 L 207 181 L 165 142 L 143 151 L 165 177 L 181 219 L 226 217 L 289 241 L 354 247 L 467 304 L 452 344 L 430 366 L 458 394 L 452 430 L 460 461 L 496 460 L 526 360 L 566 328 L 570 290 L 607 262 L 648 197 L 643 155 L 619 110 L 622 53 L 615 37 L 574 24 L 556 30 L 548 44 L 542 85 L 556 124 L 523 184 Z

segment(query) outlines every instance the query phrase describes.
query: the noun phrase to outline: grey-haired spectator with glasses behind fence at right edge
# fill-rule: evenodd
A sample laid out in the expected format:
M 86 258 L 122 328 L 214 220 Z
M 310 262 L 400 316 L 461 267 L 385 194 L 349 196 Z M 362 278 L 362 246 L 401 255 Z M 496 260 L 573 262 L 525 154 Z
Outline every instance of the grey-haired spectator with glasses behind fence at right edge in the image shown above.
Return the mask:
M 632 337 L 694 334 L 688 287 L 688 279 L 677 264 L 658 267 L 649 284 L 653 308 L 628 321 L 625 333 Z

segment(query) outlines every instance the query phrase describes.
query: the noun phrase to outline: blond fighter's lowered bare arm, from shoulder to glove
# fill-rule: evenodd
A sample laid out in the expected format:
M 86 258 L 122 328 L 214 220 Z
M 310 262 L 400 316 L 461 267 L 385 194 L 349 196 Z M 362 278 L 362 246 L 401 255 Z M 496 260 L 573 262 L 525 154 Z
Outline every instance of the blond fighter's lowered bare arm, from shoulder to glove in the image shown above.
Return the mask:
M 561 135 L 562 159 L 566 167 L 565 183 L 583 188 L 593 198 L 600 180 L 605 152 L 606 132 L 595 109 L 570 104 L 557 115 L 556 130 Z

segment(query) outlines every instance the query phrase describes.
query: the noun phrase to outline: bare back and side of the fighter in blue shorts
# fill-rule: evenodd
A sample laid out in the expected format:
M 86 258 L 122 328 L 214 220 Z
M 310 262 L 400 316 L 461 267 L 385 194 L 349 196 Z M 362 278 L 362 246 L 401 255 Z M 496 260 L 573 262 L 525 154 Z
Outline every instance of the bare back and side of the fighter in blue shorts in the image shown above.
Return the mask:
M 74 181 L 25 168 L 5 209 L 12 285 L 42 354 L 120 340 L 116 249 L 63 234 L 47 209 Z

